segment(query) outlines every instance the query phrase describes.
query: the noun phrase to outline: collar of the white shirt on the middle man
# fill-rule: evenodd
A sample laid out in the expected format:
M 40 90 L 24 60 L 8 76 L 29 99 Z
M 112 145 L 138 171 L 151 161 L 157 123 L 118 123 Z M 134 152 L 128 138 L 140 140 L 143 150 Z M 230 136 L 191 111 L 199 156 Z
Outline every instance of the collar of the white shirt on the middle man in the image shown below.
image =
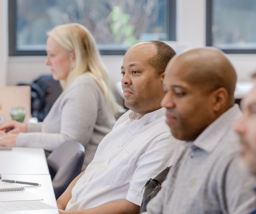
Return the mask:
M 135 119 L 136 113 L 131 111 L 129 113 L 129 119 L 130 122 L 135 122 L 135 123 L 141 123 L 142 125 L 147 125 L 151 122 L 154 122 L 155 120 L 159 119 L 160 117 L 163 117 L 166 115 L 166 109 L 165 108 L 160 108 L 158 110 L 152 111 L 150 113 L 145 114 L 142 118 L 140 119 Z

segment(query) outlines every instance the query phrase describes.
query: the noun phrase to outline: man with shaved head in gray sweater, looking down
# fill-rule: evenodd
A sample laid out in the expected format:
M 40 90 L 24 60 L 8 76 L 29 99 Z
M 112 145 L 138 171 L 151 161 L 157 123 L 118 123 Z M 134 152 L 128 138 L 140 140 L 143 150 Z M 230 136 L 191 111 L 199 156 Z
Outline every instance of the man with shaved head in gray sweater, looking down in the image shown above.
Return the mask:
M 256 180 L 240 163 L 241 116 L 236 73 L 222 51 L 199 48 L 167 65 L 162 106 L 174 137 L 184 140 L 145 214 L 247 214 L 256 208 Z

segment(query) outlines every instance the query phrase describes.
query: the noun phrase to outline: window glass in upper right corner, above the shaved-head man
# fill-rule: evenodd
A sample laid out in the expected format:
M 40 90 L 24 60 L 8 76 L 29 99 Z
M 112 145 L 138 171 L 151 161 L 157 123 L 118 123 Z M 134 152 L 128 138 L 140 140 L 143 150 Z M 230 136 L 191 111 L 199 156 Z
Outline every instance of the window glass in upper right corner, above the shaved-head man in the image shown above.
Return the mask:
M 211 45 L 220 49 L 256 49 L 255 0 L 212 0 L 211 12 Z

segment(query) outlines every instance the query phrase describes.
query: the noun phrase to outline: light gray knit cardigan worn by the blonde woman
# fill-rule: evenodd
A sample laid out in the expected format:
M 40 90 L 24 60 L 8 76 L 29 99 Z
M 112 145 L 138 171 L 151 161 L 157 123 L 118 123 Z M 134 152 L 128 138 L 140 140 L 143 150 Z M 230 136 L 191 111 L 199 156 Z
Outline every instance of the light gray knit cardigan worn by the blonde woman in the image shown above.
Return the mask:
M 114 122 L 114 114 L 97 83 L 81 75 L 62 92 L 43 122 L 29 123 L 29 133 L 18 134 L 16 146 L 52 151 L 66 140 L 76 140 L 85 147 L 85 169 Z

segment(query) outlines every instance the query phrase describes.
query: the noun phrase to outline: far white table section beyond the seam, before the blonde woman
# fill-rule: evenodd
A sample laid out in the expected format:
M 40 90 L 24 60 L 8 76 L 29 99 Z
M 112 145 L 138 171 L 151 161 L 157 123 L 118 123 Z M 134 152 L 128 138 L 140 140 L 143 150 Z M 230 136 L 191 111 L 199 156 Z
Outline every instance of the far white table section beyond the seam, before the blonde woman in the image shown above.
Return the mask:
M 0 150 L 0 174 L 49 175 L 44 150 L 26 147 Z

